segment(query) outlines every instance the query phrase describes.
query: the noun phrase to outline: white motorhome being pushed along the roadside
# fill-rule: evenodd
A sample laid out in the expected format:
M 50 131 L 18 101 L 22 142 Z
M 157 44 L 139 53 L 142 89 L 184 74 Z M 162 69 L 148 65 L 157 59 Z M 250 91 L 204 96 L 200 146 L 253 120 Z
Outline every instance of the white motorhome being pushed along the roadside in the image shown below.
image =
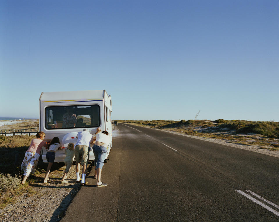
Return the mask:
M 63 148 L 56 151 L 54 162 L 64 161 L 64 150 L 69 143 L 76 144 L 78 132 L 87 128 L 94 135 L 97 127 L 101 131 L 108 131 L 111 138 L 107 159 L 112 147 L 111 111 L 111 96 L 105 90 L 41 93 L 40 131 L 46 134 L 46 142 L 58 137 Z M 46 153 L 47 149 L 43 147 L 44 162 L 47 162 Z M 94 160 L 93 151 L 90 152 L 89 160 Z

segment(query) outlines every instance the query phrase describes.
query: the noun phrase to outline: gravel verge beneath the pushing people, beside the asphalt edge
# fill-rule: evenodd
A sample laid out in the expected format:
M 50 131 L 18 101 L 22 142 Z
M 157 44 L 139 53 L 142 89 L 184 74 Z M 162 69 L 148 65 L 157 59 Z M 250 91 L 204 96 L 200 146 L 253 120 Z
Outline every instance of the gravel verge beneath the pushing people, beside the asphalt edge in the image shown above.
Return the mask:
M 60 183 L 65 171 L 65 165 L 61 165 L 53 165 L 55 169 L 51 171 L 47 184 L 42 183 L 44 174 L 37 175 L 35 180 L 41 182 L 29 184 L 31 192 L 23 193 L 17 197 L 16 203 L 1 209 L 0 221 L 60 221 L 81 187 L 80 183 L 76 183 L 75 165 L 67 175 L 69 183 Z M 87 174 L 92 166 L 88 165 Z

